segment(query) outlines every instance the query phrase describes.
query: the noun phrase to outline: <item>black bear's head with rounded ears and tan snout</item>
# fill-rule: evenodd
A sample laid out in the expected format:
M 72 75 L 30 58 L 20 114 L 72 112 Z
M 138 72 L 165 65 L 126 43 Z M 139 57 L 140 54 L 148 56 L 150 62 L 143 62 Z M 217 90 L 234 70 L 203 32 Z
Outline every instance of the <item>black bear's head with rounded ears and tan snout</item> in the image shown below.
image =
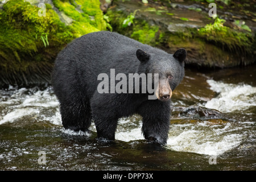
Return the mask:
M 160 49 L 157 52 L 145 52 L 137 49 L 136 56 L 141 61 L 138 73 L 158 73 L 158 88 L 155 96 L 160 101 L 170 100 L 172 91 L 184 77 L 184 60 L 187 51 L 178 49 L 173 55 Z

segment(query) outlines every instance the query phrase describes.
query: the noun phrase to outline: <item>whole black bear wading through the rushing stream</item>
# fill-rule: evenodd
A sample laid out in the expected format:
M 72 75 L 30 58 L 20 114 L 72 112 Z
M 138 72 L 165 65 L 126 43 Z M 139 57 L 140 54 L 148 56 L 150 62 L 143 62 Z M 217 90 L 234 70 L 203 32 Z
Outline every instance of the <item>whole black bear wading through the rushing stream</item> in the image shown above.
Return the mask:
M 183 48 L 172 55 L 108 31 L 93 32 L 73 40 L 57 55 L 52 72 L 52 85 L 60 102 L 64 128 L 85 131 L 94 121 L 98 138 L 114 140 L 118 119 L 137 113 L 143 117 L 144 138 L 166 144 L 170 98 L 184 77 L 186 56 Z M 129 77 L 131 73 L 154 74 L 152 80 L 158 78 L 157 99 L 149 99 L 152 92 L 132 92 L 136 84 L 142 87 L 146 82 L 149 86 L 150 77 L 147 81 L 142 81 L 141 77 L 139 83 L 129 83 L 131 88 L 127 89 L 123 88 L 125 84 L 120 86 L 119 83 L 119 89 L 124 92 L 113 92 L 121 80 L 115 77 L 118 73 L 122 73 L 122 83 L 130 81 L 123 76 Z M 110 81 L 110 86 L 102 85 L 100 74 L 109 76 L 106 84 Z M 99 88 L 105 92 L 99 92 Z

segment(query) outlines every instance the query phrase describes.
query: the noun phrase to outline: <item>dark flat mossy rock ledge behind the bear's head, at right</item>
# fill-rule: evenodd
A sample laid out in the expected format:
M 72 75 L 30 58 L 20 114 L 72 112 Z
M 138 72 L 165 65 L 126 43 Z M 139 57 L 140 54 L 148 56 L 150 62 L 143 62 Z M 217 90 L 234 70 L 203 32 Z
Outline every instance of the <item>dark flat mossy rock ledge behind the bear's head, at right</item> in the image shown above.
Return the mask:
M 183 47 L 188 52 L 187 66 L 229 68 L 255 63 L 254 29 L 251 32 L 238 30 L 226 26 L 225 20 L 209 20 L 206 11 L 194 12 L 184 8 L 191 7 L 196 1 L 187 1 L 189 6 L 179 5 L 179 9 L 169 7 L 163 1 L 148 2 L 143 5 L 138 0 L 114 0 L 107 12 L 113 31 L 169 53 Z M 123 21 L 131 14 L 135 15 L 133 23 L 124 27 Z M 180 14 L 192 17 L 182 19 Z

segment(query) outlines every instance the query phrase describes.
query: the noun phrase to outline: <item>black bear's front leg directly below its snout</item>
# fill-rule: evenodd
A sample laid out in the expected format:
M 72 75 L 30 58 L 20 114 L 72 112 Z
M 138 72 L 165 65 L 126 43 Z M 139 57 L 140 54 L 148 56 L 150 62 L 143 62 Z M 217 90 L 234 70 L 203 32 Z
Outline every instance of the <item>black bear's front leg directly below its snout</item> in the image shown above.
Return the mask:
M 144 138 L 166 144 L 170 128 L 171 102 L 148 100 L 143 102 L 138 113 L 143 117 Z

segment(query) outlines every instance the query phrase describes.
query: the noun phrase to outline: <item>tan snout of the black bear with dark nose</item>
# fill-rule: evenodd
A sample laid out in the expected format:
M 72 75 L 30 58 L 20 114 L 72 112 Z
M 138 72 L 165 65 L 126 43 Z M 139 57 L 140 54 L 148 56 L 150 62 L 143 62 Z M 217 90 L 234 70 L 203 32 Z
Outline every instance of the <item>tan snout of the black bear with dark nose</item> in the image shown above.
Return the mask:
M 167 101 L 172 96 L 172 90 L 170 88 L 170 84 L 168 79 L 159 80 L 159 89 L 156 92 L 156 97 L 160 101 Z

